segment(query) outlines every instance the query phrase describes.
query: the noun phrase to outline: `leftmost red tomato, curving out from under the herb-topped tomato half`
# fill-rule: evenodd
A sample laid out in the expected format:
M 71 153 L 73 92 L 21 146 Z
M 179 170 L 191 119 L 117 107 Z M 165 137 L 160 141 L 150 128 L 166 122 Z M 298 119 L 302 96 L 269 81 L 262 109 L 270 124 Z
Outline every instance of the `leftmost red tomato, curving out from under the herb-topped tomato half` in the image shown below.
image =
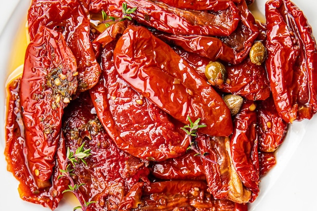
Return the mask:
M 68 181 L 65 179 L 57 180 L 60 175 L 59 168 L 65 160 L 65 145 L 63 139 L 59 140 L 56 153 L 56 164 L 53 172 L 53 185 L 45 189 L 38 189 L 30 175 L 26 160 L 26 146 L 24 141 L 24 125 L 21 119 L 21 106 L 19 98 L 20 79 L 10 83 L 9 103 L 6 124 L 6 148 L 5 156 L 8 163 L 7 169 L 12 172 L 19 181 L 19 194 L 25 200 L 45 207 L 55 209 L 63 197 L 62 191 L 66 189 Z

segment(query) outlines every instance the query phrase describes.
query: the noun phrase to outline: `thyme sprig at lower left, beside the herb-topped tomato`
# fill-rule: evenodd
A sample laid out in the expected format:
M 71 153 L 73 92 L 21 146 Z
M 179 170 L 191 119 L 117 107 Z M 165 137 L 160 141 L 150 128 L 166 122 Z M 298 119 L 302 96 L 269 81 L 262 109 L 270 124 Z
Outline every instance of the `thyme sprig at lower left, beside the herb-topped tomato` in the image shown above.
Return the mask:
M 70 151 L 69 147 L 67 148 L 66 160 L 63 163 L 63 168 L 59 170 L 62 174 L 58 176 L 58 179 L 66 177 L 69 180 L 70 184 L 68 185 L 68 189 L 64 190 L 63 193 L 73 193 L 81 204 L 80 206 L 74 207 L 73 210 L 82 209 L 83 211 L 86 211 L 88 206 L 92 203 L 96 203 L 96 201 L 82 201 L 80 195 L 78 194 L 78 190 L 81 186 L 85 185 L 85 183 L 81 183 L 78 185 L 75 184 L 74 180 L 72 179 L 72 177 L 75 176 L 75 174 L 73 174 L 73 167 L 75 167 L 75 164 L 82 161 L 83 163 L 85 163 L 85 165 L 87 165 L 87 162 L 84 160 L 84 158 L 91 155 L 91 149 L 84 150 L 84 146 L 85 142 L 80 147 L 78 147 L 75 152 Z

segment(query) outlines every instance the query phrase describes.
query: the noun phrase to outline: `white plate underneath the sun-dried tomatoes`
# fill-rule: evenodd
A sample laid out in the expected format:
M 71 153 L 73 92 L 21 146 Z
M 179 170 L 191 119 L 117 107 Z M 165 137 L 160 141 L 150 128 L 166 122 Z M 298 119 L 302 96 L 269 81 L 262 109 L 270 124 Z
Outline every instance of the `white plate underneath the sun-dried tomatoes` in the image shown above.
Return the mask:
M 255 0 L 255 7 L 264 13 L 265 0 Z M 317 37 L 317 2 L 293 0 L 304 11 Z M 49 210 L 20 199 L 18 182 L 7 172 L 5 148 L 5 82 L 8 77 L 8 61 L 15 35 L 29 3 L 26 0 L 0 1 L 0 210 L 41 211 Z M 9 24 L 4 23 L 9 20 Z M 3 29 L 3 30 L 2 30 Z M 283 145 L 276 153 L 278 164 L 262 178 L 260 194 L 250 204 L 250 211 L 317 210 L 317 115 L 311 120 L 291 125 Z M 63 199 L 56 211 L 72 210 L 74 202 Z

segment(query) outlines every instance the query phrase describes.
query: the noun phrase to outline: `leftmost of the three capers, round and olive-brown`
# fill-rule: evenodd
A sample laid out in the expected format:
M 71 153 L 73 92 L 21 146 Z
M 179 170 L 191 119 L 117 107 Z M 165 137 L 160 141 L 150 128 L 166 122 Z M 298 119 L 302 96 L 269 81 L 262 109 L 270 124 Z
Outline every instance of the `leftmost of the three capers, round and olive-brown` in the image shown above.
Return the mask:
M 227 70 L 220 62 L 209 62 L 205 69 L 205 75 L 212 85 L 221 86 L 227 79 Z

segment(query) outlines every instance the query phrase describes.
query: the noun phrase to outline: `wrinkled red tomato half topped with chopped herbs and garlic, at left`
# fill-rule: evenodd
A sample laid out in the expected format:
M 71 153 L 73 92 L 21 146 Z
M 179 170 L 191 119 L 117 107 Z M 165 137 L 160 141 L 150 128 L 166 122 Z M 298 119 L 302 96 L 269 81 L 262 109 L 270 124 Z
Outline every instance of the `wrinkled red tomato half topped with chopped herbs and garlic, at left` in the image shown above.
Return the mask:
M 46 78 L 47 75 L 55 70 L 65 75 L 66 79 L 61 81 L 67 83 L 63 88 L 66 88 L 66 97 L 71 99 L 77 88 L 77 79 L 73 76 L 76 72 L 75 58 L 61 33 L 42 27 L 27 47 L 20 92 L 27 160 L 39 187 L 50 186 L 63 108 L 68 104 L 61 98 L 56 103 L 56 109 L 52 107 L 56 94 L 62 89 L 47 85 L 51 79 Z M 39 171 L 38 176 L 35 170 Z

